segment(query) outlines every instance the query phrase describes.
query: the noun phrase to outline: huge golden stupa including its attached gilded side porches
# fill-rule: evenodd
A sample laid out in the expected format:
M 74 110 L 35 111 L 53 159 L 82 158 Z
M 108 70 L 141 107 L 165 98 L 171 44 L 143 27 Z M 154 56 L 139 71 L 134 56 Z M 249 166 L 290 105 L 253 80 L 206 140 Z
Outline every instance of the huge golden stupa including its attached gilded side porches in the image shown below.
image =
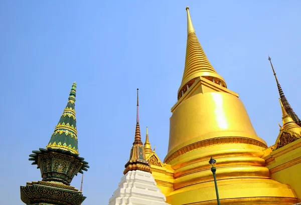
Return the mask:
M 276 163 L 272 155 L 279 152 L 275 150 L 277 142 L 267 147 L 257 136 L 238 94 L 227 88 L 225 80 L 208 61 L 196 37 L 189 8 L 186 10 L 185 69 L 178 102 L 171 109 L 169 147 L 164 163 L 155 150 L 152 151 L 148 134 L 144 144 L 146 159 L 157 185 L 167 197 L 166 202 L 172 205 L 217 204 L 208 164 L 212 156 L 218 161 L 216 177 L 221 204 L 296 203 L 298 196 L 288 185 L 289 181 L 278 182 L 281 180 L 272 175 L 268 167 Z M 285 113 L 282 131 L 290 128 L 299 131 L 300 127 L 291 123 L 293 120 Z M 293 143 L 300 144 L 301 149 L 300 140 Z M 286 150 L 286 146 L 279 150 Z M 290 149 L 287 150 L 288 153 Z M 300 153 L 297 156 L 301 157 Z M 281 177 L 283 179 L 283 174 Z

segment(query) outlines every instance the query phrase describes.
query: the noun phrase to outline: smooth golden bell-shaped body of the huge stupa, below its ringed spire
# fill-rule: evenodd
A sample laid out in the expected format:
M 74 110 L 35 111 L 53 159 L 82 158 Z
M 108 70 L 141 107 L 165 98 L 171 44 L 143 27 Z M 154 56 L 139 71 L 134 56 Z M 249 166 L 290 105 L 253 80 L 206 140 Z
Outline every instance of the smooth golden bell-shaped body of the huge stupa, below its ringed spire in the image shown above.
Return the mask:
M 166 159 L 191 144 L 219 137 L 246 138 L 267 147 L 257 136 L 239 98 L 226 92 L 203 93 L 197 89 L 173 111 Z

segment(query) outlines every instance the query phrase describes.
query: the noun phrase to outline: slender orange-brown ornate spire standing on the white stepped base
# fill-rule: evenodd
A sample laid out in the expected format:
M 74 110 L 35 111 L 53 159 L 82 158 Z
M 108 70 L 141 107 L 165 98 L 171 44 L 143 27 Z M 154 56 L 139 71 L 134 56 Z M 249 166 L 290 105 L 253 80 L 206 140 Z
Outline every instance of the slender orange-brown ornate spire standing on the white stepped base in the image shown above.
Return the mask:
M 138 89 L 137 89 L 137 118 L 136 118 L 136 129 L 135 129 L 135 139 L 133 146 L 130 150 L 129 160 L 125 164 L 125 169 L 123 174 L 128 171 L 141 170 L 152 173 L 150 170 L 150 165 L 145 158 L 144 147 L 141 141 L 140 127 L 139 127 L 139 100 L 138 100 Z

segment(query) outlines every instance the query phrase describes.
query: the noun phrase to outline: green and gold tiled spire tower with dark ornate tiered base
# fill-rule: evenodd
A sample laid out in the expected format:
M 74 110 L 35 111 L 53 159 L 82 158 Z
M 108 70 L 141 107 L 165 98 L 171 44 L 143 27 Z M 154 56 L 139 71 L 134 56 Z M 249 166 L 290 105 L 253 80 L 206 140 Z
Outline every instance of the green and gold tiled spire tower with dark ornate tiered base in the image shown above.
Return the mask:
M 42 180 L 20 187 L 21 200 L 27 205 L 80 205 L 86 198 L 80 190 L 70 186 L 74 175 L 89 168 L 78 152 L 75 96 L 74 82 L 67 106 L 48 145 L 29 155 L 29 160 L 34 161 L 32 164 L 40 168 Z

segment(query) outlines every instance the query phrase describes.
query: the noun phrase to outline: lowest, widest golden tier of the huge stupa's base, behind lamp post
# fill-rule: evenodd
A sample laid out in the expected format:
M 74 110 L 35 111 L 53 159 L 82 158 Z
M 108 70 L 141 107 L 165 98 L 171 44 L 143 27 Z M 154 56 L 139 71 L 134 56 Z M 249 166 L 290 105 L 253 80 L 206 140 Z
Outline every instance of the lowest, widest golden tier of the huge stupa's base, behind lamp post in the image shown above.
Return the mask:
M 226 204 L 281 204 L 291 205 L 297 197 L 289 185 L 271 179 L 225 179 L 218 180 L 220 202 Z M 173 205 L 216 204 L 214 181 L 186 186 L 167 196 L 167 202 Z

